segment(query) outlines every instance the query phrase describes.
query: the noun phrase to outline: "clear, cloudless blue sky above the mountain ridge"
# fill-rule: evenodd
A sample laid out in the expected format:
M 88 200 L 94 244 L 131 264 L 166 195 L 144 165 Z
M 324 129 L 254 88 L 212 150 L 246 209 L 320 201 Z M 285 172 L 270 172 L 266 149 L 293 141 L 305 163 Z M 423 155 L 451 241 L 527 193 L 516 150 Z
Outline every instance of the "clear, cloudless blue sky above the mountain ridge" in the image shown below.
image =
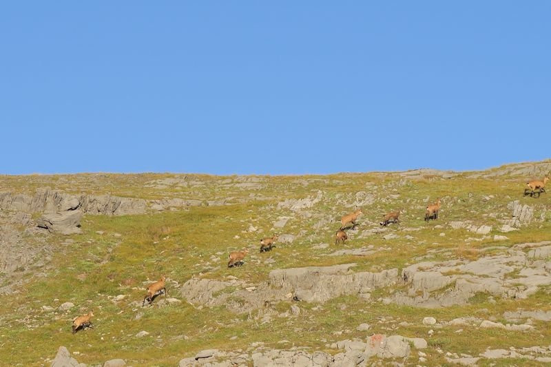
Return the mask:
M 0 173 L 551 157 L 551 1 L 3 1 Z

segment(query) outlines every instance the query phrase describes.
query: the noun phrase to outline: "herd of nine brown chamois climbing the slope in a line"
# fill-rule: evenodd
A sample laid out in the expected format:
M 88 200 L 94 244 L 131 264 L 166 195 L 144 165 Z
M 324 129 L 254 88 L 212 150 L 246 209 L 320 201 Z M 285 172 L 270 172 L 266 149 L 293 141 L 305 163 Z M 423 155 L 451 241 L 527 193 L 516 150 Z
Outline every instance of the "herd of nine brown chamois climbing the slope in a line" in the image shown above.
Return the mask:
M 545 175 L 543 180 L 534 180 L 530 182 L 526 182 L 526 189 L 524 189 L 524 196 L 530 195 L 533 198 L 539 198 L 541 193 L 545 193 L 545 184 L 549 181 L 549 173 Z M 438 219 L 438 212 L 440 211 L 441 206 L 441 200 L 440 198 L 436 199 L 436 202 L 434 204 L 430 204 L 426 206 L 425 211 L 425 218 L 424 220 L 437 220 Z M 401 209 L 399 211 L 391 211 L 389 213 L 386 213 L 383 216 L 382 222 L 380 224 L 384 227 L 386 227 L 388 224 L 391 223 L 398 223 L 399 222 L 399 216 L 404 210 Z M 340 220 L 341 227 L 337 230 L 335 233 L 335 244 L 343 243 L 344 241 L 348 240 L 348 235 L 346 235 L 346 230 L 348 229 L 354 229 L 357 226 L 357 218 L 362 215 L 362 209 L 358 209 L 354 211 L 353 213 L 347 214 L 346 216 L 343 216 Z M 352 224 L 351 227 L 349 227 L 349 224 Z M 278 241 L 278 235 L 273 235 L 272 237 L 262 238 L 260 240 L 260 252 L 266 252 L 271 251 L 273 249 L 275 242 Z M 233 266 L 241 266 L 243 264 L 243 259 L 245 256 L 249 253 L 249 249 L 243 249 L 242 251 L 233 251 L 229 254 L 229 261 L 228 261 L 228 267 Z M 166 278 L 163 275 L 160 277 L 160 280 L 157 282 L 149 285 L 147 287 L 147 294 L 145 295 L 142 306 L 145 306 L 145 301 L 149 304 L 152 304 L 155 297 L 158 295 L 164 294 L 165 297 L 167 296 L 167 288 L 165 284 Z M 94 316 L 94 313 L 90 312 L 86 315 L 81 315 L 79 317 L 75 317 L 72 322 L 72 333 L 76 333 L 79 331 L 79 329 L 92 327 L 92 316 Z

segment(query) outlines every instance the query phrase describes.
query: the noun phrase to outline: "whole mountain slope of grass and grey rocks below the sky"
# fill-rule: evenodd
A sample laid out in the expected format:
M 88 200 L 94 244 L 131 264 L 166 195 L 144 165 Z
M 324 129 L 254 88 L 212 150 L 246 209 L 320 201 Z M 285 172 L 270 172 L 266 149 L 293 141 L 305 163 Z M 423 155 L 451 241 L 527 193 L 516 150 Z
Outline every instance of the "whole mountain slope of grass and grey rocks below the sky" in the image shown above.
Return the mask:
M 548 363 L 551 196 L 522 193 L 550 169 L 0 176 L 0 364 Z M 142 307 L 160 274 L 169 294 Z

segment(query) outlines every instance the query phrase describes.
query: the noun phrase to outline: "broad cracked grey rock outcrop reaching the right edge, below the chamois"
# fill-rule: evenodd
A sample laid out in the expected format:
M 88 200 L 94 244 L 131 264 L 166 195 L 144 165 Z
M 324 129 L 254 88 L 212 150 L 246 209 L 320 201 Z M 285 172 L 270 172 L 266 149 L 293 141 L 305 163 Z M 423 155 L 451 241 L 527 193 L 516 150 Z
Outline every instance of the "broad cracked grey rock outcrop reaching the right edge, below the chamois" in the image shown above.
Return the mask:
M 516 248 L 524 247 L 521 244 Z M 438 308 L 466 304 L 479 292 L 505 298 L 526 298 L 539 286 L 550 285 L 551 274 L 546 262 L 532 260 L 546 255 L 547 247 L 532 249 L 528 253 L 517 249 L 509 250 L 506 255 L 488 256 L 472 262 L 450 260 L 408 266 L 402 271 L 406 293 L 397 292 L 391 301 Z M 513 272 L 518 275 L 509 277 Z

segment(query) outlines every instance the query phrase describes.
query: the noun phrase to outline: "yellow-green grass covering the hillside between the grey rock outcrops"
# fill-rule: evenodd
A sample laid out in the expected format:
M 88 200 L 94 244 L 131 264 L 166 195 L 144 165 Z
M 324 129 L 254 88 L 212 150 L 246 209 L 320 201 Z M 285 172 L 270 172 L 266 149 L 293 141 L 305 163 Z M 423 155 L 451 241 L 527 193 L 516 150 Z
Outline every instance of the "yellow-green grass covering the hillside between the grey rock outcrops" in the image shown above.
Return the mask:
M 269 322 L 263 322 L 256 311 L 237 314 L 223 306 L 191 305 L 178 291 L 191 277 L 237 277 L 254 286 L 267 280 L 269 271 L 291 267 L 353 262 L 357 264 L 353 271 L 401 271 L 426 259 L 476 260 L 488 253 L 505 253 L 514 244 L 551 240 L 551 192 L 538 199 L 525 197 L 524 182 L 526 177 L 514 174 L 473 178 L 471 173 L 448 179 L 376 173 L 247 178 L 171 174 L 1 176 L 0 191 L 32 193 L 48 186 L 70 193 L 145 199 L 224 199 L 227 205 L 137 216 L 85 216 L 82 234 L 49 235 L 48 242 L 55 251 L 48 266 L 27 273 L 14 293 L 3 296 L 0 365 L 49 365 L 47 359 L 52 359 L 62 345 L 78 353 L 75 357 L 86 364 L 123 358 L 133 366 L 175 366 L 198 350 L 247 350 L 253 342 L 272 348 L 304 346 L 335 354 L 338 350 L 331 348 L 333 342 L 373 333 L 424 337 L 429 344 L 424 350 L 426 364 L 433 366 L 446 363 L 445 352 L 479 355 L 488 347 L 551 345 L 550 328 L 537 320 L 532 323 L 534 329 L 527 332 L 422 324 L 425 316 L 437 320 L 475 316 L 506 323 L 505 311 L 548 311 L 548 286 L 540 286 L 524 300 L 479 293 L 466 306 L 433 310 L 384 304 L 380 298 L 396 289 L 378 289 L 370 300 L 346 296 L 324 304 L 300 302 L 298 317 L 278 317 L 289 310 L 292 301 L 280 302 L 273 306 L 274 316 Z M 249 185 L 236 185 L 242 183 Z M 321 200 L 312 207 L 294 211 L 284 205 L 278 207 L 286 199 L 315 198 L 318 191 Z M 437 197 L 442 200 L 439 220 L 425 222 L 424 207 Z M 533 207 L 534 220 L 518 231 L 501 233 L 498 229 L 511 217 L 508 204 L 513 200 Z M 340 216 L 362 201 L 364 215 L 357 233 L 351 233 L 346 244 L 335 245 L 333 235 L 340 226 Z M 381 216 L 394 209 L 405 209 L 400 224 L 368 232 L 380 229 Z M 280 217 L 289 220 L 284 227 L 273 228 Z M 452 221 L 485 224 L 492 226 L 492 231 L 477 235 L 453 229 L 449 225 Z M 273 233 L 296 238 L 292 244 L 278 243 L 273 251 L 258 253 L 260 238 Z M 389 233 L 396 238 L 386 240 L 384 236 Z M 508 239 L 497 242 L 494 235 Z M 329 247 L 313 248 L 323 243 Z M 368 246 L 379 251 L 366 256 L 328 256 L 336 249 Z M 251 249 L 245 264 L 228 269 L 227 254 L 242 247 Z M 182 302 L 160 305 L 164 297 L 160 296 L 152 306 L 142 307 L 145 286 L 162 274 L 168 278 L 169 296 Z M 117 295 L 125 297 L 116 301 Z M 57 307 L 64 302 L 75 306 L 59 311 Z M 89 310 L 96 315 L 95 327 L 72 335 L 72 318 Z M 371 325 L 368 332 L 356 330 L 362 323 Z M 429 335 L 431 328 L 434 333 Z M 136 337 L 140 331 L 149 335 Z M 415 363 L 416 353 L 413 350 L 408 361 Z M 479 363 L 489 364 L 490 360 Z

